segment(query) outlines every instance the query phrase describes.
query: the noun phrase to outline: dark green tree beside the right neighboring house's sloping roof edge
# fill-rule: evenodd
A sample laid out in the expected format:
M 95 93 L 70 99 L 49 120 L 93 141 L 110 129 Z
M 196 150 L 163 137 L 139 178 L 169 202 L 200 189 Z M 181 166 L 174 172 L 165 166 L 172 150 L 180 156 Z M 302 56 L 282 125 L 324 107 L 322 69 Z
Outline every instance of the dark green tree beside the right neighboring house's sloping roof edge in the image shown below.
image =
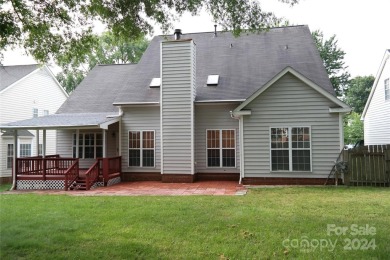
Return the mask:
M 374 76 L 358 76 L 349 81 L 345 93 L 345 102 L 351 106 L 356 113 L 363 113 L 374 81 Z

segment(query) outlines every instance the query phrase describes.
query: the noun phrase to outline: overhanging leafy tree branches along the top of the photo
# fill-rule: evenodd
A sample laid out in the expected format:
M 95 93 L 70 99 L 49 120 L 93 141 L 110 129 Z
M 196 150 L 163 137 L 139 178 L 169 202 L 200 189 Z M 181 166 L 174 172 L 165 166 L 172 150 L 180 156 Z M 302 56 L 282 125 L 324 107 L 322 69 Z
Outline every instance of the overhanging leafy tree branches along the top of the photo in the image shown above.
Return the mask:
M 299 0 L 279 1 L 294 5 Z M 281 21 L 254 0 L 0 0 L 0 50 L 19 46 L 40 62 L 70 60 L 97 44 L 96 21 L 118 39 L 137 39 L 152 33 L 153 23 L 167 32 L 175 17 L 184 12 L 196 15 L 202 9 L 236 35 Z

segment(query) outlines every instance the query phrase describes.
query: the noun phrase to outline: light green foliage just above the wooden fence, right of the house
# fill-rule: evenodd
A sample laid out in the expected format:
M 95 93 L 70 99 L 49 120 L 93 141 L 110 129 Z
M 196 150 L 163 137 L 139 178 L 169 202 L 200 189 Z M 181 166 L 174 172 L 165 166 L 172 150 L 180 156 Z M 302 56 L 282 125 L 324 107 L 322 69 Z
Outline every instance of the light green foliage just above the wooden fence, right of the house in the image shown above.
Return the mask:
M 344 117 L 344 143 L 355 144 L 364 139 L 364 125 L 360 120 L 361 114 L 351 112 Z

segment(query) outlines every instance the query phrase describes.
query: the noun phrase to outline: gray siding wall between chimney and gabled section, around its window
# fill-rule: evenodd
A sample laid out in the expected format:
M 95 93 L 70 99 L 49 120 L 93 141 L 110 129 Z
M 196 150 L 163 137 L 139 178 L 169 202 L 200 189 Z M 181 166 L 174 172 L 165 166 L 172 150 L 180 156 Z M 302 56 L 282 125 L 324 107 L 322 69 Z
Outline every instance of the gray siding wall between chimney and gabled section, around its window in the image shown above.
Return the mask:
M 196 105 L 195 106 L 195 163 L 199 173 L 239 173 L 240 142 L 239 121 L 230 116 L 237 104 Z M 236 131 L 236 167 L 207 167 L 208 129 L 234 129 Z

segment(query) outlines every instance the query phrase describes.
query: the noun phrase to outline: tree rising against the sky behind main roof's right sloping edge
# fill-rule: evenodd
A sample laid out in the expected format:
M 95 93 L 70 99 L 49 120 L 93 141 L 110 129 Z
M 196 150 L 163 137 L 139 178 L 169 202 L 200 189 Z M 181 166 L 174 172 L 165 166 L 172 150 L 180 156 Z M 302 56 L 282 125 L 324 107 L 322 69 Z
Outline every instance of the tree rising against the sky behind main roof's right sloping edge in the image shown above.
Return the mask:
M 326 40 L 324 34 L 320 30 L 316 30 L 312 36 L 336 95 L 343 97 L 350 77 L 347 71 L 348 67 L 344 63 L 345 52 L 337 46 L 336 35 Z

